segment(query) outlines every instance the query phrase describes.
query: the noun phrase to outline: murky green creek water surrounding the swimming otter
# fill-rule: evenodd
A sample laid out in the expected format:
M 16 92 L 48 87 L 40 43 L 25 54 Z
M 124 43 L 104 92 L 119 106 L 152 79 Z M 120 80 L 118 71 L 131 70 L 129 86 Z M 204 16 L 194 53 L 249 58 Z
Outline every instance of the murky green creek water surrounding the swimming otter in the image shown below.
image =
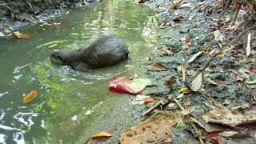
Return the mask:
M 37 24 L 19 30 L 31 38 L 0 39 L 0 143 L 79 143 L 86 131 L 100 130 L 94 126 L 97 111 L 128 102 L 124 94 L 110 91 L 108 83 L 114 76 L 142 73 L 139 65 L 147 62 L 154 48 L 156 21 L 147 7 L 108 0 L 48 22 L 60 25 Z M 117 34 L 126 42 L 131 61 L 86 73 L 50 62 L 54 50 L 86 47 L 105 33 Z M 23 103 L 31 90 L 38 90 L 38 96 Z M 114 118 L 114 114 L 101 117 Z

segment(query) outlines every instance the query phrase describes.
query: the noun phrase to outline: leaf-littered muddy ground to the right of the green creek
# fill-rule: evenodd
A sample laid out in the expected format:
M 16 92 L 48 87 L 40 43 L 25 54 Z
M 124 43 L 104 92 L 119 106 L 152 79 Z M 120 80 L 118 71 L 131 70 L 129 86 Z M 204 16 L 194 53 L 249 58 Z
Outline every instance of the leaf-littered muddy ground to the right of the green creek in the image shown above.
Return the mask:
M 124 131 L 120 143 L 255 143 L 255 2 L 139 2 L 158 11 L 162 45 L 142 65 L 153 81 L 142 92 L 154 98 L 148 121 Z M 13 25 L 1 22 L 6 37 Z

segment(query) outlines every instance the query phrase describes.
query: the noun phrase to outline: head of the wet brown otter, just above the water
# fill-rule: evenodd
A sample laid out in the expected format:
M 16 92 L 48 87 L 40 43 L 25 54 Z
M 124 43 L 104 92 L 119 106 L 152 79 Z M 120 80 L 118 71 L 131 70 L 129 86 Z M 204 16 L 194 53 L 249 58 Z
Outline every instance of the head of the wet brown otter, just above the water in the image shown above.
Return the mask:
M 66 65 L 67 55 L 68 52 L 66 51 L 54 51 L 54 53 L 50 55 L 50 60 L 54 63 Z

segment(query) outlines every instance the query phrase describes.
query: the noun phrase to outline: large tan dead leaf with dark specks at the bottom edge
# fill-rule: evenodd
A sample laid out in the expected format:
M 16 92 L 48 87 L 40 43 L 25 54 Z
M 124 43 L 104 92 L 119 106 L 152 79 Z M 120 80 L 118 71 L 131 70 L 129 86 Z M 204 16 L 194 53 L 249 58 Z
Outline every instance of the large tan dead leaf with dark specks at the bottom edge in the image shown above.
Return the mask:
M 146 121 L 139 123 L 137 126 L 130 127 L 122 132 L 118 138 L 120 144 L 130 143 L 159 143 L 165 140 L 171 141 L 171 128 L 177 123 L 184 124 L 185 116 L 190 118 L 187 110 L 174 114 L 159 114 Z M 192 111 L 192 110 L 188 110 Z

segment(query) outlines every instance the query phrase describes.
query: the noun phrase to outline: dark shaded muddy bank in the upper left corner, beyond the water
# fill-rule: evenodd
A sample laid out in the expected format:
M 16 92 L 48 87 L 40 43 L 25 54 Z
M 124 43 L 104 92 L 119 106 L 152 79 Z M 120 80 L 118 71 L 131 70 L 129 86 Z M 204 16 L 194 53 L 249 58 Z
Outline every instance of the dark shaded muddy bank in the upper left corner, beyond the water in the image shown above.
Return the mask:
M 12 31 L 24 26 L 53 20 L 70 10 L 82 9 L 97 0 L 87 1 L 2 1 L 0 2 L 0 37 L 6 38 Z

